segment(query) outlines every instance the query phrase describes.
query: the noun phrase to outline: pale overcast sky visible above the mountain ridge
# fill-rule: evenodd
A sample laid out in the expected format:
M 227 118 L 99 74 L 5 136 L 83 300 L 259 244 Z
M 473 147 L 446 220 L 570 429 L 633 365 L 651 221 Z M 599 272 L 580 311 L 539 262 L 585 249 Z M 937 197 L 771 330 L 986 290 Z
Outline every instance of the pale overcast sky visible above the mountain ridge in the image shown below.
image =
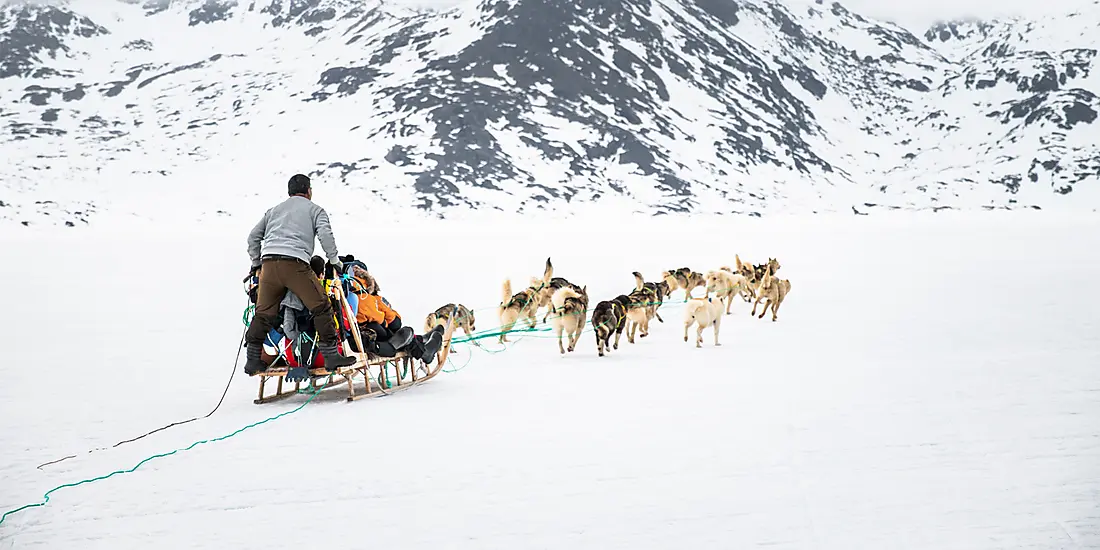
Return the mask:
M 424 8 L 449 8 L 463 0 L 388 0 L 393 3 Z M 810 3 L 811 0 L 783 0 L 784 3 Z M 833 0 L 825 0 L 826 6 Z M 886 19 L 905 25 L 911 31 L 923 32 L 939 19 L 960 19 L 972 15 L 992 19 L 998 15 L 1035 15 L 1069 12 L 1074 7 L 1100 6 L 1091 0 L 840 0 L 840 3 L 860 15 Z

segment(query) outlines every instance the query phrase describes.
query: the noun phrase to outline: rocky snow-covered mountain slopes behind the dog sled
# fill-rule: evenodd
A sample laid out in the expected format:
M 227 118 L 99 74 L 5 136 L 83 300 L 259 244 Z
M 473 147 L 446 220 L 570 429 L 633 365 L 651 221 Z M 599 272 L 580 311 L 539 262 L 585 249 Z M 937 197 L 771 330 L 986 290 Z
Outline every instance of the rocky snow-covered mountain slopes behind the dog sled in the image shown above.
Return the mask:
M 820 1 L 9 3 L 0 218 L 234 215 L 294 172 L 345 212 L 1093 210 L 1098 21 L 1097 1 L 923 37 Z

